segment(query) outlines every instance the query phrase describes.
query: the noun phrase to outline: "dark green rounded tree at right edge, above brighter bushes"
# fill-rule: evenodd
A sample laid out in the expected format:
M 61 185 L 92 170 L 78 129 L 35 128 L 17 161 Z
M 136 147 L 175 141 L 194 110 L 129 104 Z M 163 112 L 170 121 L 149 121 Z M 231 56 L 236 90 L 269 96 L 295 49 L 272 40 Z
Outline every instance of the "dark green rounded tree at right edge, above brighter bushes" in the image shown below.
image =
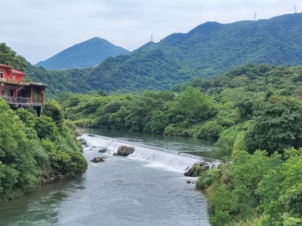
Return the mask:
M 255 121 L 245 138 L 250 153 L 267 150 L 283 153 L 284 149 L 302 145 L 302 103 L 292 97 L 270 96 L 260 102 Z

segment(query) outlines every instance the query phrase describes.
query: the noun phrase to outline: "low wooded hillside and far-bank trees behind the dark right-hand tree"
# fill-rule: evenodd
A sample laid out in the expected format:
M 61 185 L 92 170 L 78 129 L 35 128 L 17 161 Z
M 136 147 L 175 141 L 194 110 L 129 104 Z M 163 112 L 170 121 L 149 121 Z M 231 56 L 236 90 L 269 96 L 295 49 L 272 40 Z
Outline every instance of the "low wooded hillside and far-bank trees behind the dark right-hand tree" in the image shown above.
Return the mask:
M 172 91 L 64 93 L 60 102 L 67 119 L 79 126 L 217 139 L 224 129 L 250 120 L 266 96 L 298 99 L 301 82 L 300 66 L 250 63 L 211 80 L 175 85 Z

